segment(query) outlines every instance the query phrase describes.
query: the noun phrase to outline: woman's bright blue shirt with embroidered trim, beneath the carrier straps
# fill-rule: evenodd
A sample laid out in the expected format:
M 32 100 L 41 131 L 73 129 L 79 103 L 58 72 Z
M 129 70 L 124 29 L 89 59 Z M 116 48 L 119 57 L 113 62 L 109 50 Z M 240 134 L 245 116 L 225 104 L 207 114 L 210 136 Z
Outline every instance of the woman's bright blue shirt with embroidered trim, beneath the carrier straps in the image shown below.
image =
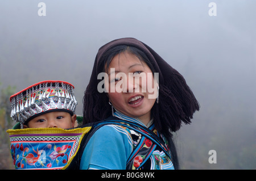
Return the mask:
M 133 121 L 145 127 L 139 119 L 125 116 L 120 112 L 114 112 L 114 116 L 122 120 Z M 151 124 L 148 129 L 162 137 L 168 148 L 168 142 L 162 134 L 156 131 L 154 124 Z M 82 153 L 80 169 L 125 170 L 127 161 L 131 159 L 130 155 L 134 149 L 151 149 L 151 154 L 145 160 L 144 155 L 135 155 L 131 161 L 131 169 L 174 169 L 171 159 L 166 153 L 158 146 L 152 148 L 151 145 L 150 140 L 132 129 L 115 124 L 104 125 L 88 141 Z

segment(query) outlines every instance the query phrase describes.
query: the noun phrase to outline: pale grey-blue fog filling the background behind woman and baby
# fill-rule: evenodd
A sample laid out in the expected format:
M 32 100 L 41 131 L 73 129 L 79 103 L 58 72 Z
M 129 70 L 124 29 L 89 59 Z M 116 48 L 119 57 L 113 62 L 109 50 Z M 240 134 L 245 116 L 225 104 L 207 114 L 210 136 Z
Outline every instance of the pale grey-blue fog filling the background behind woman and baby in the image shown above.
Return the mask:
M 46 16 L 38 16 L 39 2 Z M 217 16 L 209 16 L 210 2 Z M 178 70 L 199 100 L 192 124 L 175 134 L 181 169 L 256 169 L 255 7 L 254 0 L 1 0 L 0 89 L 71 82 L 82 115 L 98 48 L 135 37 Z M 209 150 L 217 163 L 208 162 Z

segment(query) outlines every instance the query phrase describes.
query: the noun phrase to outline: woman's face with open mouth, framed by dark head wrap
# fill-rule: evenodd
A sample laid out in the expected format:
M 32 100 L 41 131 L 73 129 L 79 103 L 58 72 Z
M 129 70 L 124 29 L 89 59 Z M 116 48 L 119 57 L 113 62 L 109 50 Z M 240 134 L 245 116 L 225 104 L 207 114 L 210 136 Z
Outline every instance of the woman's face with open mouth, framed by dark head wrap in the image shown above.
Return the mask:
M 147 124 L 155 103 L 156 82 L 151 69 L 131 53 L 114 56 L 108 69 L 109 102 L 126 116 L 138 117 Z M 152 91 L 152 89 L 154 91 Z

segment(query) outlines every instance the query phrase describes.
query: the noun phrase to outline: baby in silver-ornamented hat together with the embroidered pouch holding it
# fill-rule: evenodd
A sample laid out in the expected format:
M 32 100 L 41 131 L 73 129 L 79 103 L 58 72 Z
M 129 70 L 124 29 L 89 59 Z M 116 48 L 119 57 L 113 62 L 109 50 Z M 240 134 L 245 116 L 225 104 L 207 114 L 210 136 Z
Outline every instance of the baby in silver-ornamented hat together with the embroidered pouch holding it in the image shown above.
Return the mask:
M 15 169 L 65 169 L 90 130 L 75 125 L 74 86 L 43 81 L 12 95 L 10 102 L 18 122 L 7 130 Z

